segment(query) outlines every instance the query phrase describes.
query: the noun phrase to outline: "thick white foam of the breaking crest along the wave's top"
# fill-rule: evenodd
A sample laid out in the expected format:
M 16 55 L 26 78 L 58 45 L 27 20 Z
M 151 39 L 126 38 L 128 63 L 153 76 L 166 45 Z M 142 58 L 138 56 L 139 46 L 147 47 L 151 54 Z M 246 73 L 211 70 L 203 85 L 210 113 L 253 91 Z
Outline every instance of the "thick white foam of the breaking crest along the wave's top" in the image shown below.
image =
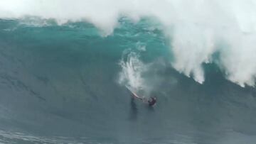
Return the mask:
M 172 65 L 204 82 L 202 64 L 214 62 L 232 82 L 254 86 L 256 77 L 255 0 L 8 0 L 0 1 L 0 18 L 39 16 L 58 23 L 88 21 L 112 33 L 120 16 L 134 21 L 152 16 L 165 28 L 174 52 Z M 223 46 L 225 45 L 225 47 Z

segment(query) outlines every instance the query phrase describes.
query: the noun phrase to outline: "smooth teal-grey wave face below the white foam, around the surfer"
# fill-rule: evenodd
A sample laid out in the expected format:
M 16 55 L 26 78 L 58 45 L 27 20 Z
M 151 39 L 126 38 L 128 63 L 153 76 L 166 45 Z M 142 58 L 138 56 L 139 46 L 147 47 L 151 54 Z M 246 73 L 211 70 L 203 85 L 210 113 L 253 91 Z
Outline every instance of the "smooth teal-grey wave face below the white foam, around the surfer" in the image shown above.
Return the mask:
M 122 18 L 102 36 L 90 23 L 41 21 L 0 21 L 1 143 L 255 143 L 255 88 L 214 64 L 203 84 L 177 72 L 156 23 Z M 129 62 L 154 108 L 120 82 Z

